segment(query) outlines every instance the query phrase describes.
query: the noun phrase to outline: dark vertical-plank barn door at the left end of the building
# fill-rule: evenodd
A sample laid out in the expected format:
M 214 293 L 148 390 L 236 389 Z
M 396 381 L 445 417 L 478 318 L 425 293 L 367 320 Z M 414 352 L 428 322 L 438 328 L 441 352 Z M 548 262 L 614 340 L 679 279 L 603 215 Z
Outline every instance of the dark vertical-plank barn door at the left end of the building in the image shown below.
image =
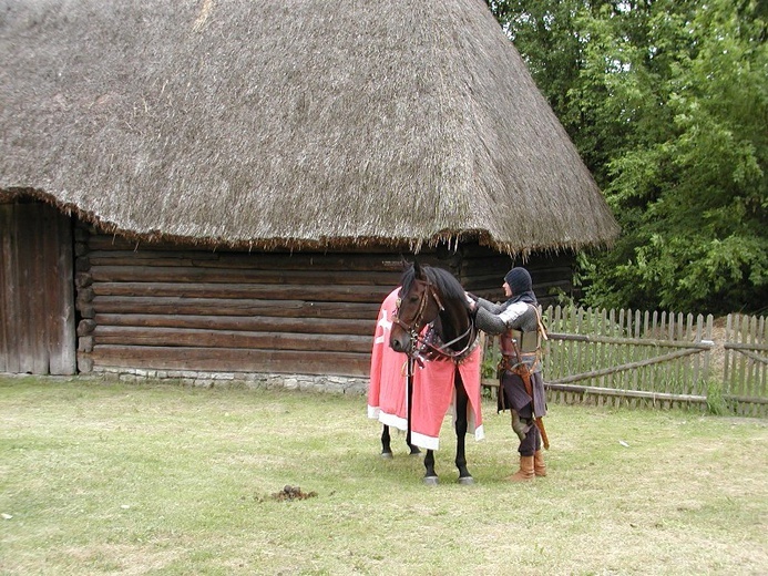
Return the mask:
M 45 204 L 0 204 L 0 372 L 75 372 L 72 223 Z

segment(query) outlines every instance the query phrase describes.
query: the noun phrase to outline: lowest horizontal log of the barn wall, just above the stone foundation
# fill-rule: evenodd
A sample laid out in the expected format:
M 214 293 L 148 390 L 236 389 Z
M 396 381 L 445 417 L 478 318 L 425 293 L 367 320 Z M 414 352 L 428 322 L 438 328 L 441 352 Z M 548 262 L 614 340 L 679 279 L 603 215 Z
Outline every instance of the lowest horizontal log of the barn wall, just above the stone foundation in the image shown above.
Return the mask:
M 96 346 L 80 352 L 78 366 L 147 370 L 198 370 L 207 372 L 256 372 L 367 377 L 370 354 L 351 352 L 297 352 L 143 346 Z

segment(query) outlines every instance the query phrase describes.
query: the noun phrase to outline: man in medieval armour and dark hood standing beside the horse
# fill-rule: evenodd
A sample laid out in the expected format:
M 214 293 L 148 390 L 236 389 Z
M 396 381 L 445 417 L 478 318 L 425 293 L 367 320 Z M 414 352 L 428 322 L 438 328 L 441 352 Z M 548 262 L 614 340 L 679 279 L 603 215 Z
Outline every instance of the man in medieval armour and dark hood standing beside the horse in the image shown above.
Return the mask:
M 546 332 L 529 271 L 512 268 L 504 276 L 503 288 L 504 304 L 470 295 L 470 307 L 477 313 L 478 328 L 501 336 L 499 411 L 511 411 L 512 429 L 520 438 L 520 470 L 509 480 L 521 482 L 546 475 L 542 444 L 549 448 L 549 441 L 541 420 L 546 414 L 541 374 L 541 341 Z

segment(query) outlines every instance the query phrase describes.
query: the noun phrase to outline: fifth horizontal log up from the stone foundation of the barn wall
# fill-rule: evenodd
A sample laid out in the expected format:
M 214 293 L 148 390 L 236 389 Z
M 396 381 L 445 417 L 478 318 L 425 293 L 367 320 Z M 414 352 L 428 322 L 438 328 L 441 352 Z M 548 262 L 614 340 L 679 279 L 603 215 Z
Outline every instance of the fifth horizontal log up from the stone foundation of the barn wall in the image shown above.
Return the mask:
M 95 276 L 94 276 L 95 278 Z M 395 287 L 334 285 L 187 284 L 160 281 L 93 282 L 96 296 L 157 296 L 181 298 L 225 298 L 252 300 L 303 300 L 321 302 L 365 302 L 380 305 Z M 86 288 L 84 290 L 90 290 Z M 85 294 L 84 290 L 83 294 Z M 86 300 L 84 300 L 86 301 Z

